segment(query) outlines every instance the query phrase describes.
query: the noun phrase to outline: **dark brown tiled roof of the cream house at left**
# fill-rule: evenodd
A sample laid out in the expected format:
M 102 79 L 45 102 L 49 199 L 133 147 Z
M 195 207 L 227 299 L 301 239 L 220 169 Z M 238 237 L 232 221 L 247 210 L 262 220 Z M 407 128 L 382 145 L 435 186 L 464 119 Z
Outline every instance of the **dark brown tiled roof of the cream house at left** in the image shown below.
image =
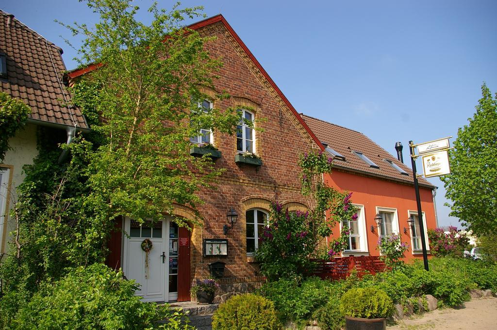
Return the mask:
M 7 66 L 7 78 L 0 79 L 0 91 L 26 103 L 31 108 L 31 119 L 87 129 L 81 111 L 68 107 L 71 96 L 62 83 L 66 66 L 61 52 L 0 10 L 0 53 L 6 55 Z

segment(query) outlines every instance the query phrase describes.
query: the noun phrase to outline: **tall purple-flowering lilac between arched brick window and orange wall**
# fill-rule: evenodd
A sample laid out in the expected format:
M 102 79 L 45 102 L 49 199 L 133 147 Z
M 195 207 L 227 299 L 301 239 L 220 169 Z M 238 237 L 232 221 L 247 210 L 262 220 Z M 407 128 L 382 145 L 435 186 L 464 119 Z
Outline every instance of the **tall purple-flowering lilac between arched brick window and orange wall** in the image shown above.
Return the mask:
M 269 222 L 259 237 L 255 258 L 269 280 L 306 275 L 312 270 L 312 258 L 331 258 L 347 247 L 350 234 L 344 227 L 341 236 L 325 244 L 332 228 L 342 220 L 357 218 L 351 204 L 352 193 L 327 187 L 323 174 L 331 171 L 332 159 L 322 151 L 300 156 L 302 195 L 309 211 L 290 212 L 273 202 Z M 328 216 L 325 216 L 328 214 Z

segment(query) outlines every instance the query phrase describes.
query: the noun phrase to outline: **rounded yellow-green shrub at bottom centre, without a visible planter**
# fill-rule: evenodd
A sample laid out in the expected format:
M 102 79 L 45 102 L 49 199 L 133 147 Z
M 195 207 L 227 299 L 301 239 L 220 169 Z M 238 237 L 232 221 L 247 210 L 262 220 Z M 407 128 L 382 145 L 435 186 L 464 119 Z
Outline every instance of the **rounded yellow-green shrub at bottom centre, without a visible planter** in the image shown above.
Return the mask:
M 213 330 L 278 330 L 282 325 L 274 304 L 254 294 L 233 296 L 212 316 Z

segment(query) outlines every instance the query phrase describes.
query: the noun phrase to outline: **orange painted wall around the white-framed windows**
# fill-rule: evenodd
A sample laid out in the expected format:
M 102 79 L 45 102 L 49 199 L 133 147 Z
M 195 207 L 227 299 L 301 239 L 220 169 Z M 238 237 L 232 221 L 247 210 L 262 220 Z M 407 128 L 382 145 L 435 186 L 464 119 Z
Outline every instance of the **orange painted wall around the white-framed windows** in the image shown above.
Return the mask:
M 377 249 L 378 230 L 374 220 L 376 207 L 379 206 L 397 209 L 401 240 L 409 244 L 409 250 L 405 253 L 406 260 L 414 258 L 422 260 L 421 254 L 413 255 L 411 232 L 407 223 L 409 218 L 408 211 L 417 211 L 414 185 L 408 186 L 386 180 L 363 177 L 357 174 L 340 172 L 338 170 L 334 170 L 331 175 L 327 174 L 325 180 L 331 187 L 337 188 L 340 191 L 352 192 L 351 201 L 353 204 L 364 205 L 367 245 L 370 256 L 379 255 Z M 436 228 L 432 191 L 427 188 L 420 188 L 419 194 L 421 197 L 421 211 L 424 212 L 426 218 L 426 226 L 428 228 Z M 374 233 L 371 232 L 371 225 L 375 227 Z M 404 227 L 408 229 L 407 234 L 404 233 Z M 333 236 L 337 237 L 338 235 L 339 226 L 336 226 L 333 228 Z M 354 256 L 360 255 L 366 254 L 354 253 Z

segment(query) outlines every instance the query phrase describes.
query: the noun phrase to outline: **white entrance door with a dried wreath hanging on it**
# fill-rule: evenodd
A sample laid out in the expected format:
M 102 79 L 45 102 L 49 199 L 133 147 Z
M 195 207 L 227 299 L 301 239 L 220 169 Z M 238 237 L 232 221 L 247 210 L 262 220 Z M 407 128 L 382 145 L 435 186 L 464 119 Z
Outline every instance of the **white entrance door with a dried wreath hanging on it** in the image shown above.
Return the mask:
M 167 221 L 168 222 L 168 221 Z M 135 279 L 140 284 L 136 295 L 142 296 L 143 301 L 167 301 L 166 295 L 166 265 L 168 256 L 166 250 L 166 220 L 153 224 L 144 222 L 140 225 L 129 218 L 125 221 L 123 270 L 128 279 Z M 149 239 L 152 249 L 147 253 L 142 249 L 142 242 Z

